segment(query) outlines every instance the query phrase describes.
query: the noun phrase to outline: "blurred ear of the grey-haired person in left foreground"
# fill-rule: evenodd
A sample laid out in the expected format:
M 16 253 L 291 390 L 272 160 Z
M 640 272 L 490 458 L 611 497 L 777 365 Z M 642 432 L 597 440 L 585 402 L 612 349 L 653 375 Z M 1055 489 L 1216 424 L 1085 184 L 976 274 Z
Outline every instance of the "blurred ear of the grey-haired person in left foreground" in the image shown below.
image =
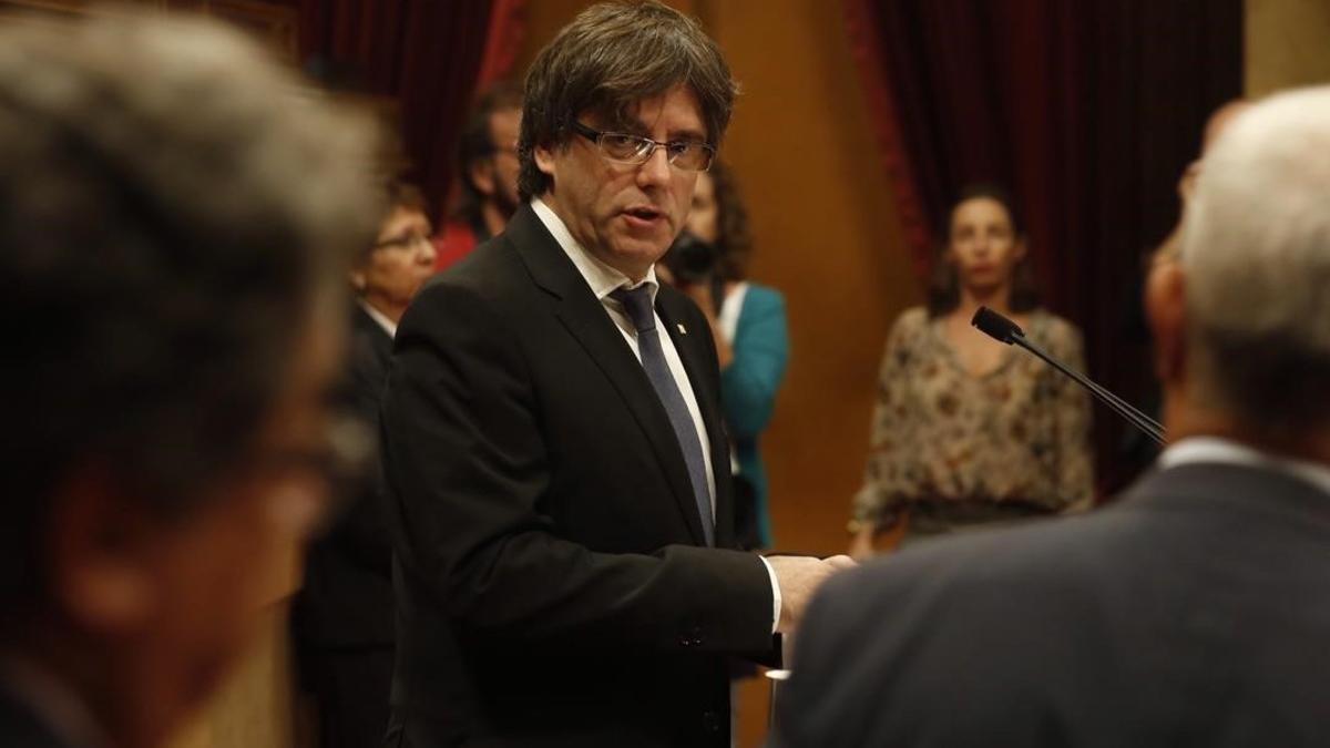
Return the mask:
M 152 546 L 157 522 L 108 470 L 81 470 L 52 495 L 45 528 L 49 591 L 78 626 L 141 631 L 154 615 Z

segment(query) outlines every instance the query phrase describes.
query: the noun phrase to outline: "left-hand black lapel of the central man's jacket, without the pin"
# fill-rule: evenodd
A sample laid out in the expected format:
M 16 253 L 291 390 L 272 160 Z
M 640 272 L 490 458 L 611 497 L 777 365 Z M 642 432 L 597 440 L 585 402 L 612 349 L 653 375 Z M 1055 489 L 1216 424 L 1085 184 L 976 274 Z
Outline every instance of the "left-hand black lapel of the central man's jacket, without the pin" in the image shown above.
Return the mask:
M 559 321 L 618 391 L 652 445 L 693 542 L 705 544 L 706 535 L 697 514 L 684 453 L 674 438 L 665 406 L 622 333 L 529 205 L 523 205 L 508 222 L 505 237 L 523 258 L 536 285 L 559 299 Z

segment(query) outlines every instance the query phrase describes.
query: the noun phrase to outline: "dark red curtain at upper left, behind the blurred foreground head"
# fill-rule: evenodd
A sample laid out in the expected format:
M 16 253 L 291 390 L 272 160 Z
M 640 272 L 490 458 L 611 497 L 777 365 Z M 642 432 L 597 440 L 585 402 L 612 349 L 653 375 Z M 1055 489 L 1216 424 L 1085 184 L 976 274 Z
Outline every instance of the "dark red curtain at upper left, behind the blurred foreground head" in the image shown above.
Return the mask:
M 512 65 L 521 0 L 298 1 L 301 59 L 396 102 L 410 177 L 444 205 L 467 106 Z

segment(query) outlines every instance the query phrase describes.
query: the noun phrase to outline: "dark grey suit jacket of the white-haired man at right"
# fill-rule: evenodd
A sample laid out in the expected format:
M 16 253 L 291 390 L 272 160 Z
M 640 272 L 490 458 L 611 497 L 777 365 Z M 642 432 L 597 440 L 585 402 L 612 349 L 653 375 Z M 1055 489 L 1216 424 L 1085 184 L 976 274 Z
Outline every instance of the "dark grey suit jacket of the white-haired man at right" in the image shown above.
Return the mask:
M 1330 745 L 1330 495 L 1184 465 L 834 578 L 781 747 Z

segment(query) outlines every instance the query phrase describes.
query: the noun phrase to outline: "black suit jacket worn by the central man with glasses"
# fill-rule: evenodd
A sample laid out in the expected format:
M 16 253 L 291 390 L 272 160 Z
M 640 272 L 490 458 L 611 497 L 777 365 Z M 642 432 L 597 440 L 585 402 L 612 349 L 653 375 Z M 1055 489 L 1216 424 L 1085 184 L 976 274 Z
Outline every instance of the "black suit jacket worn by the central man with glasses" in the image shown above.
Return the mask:
M 657 311 L 708 425 L 725 547 L 716 350 L 682 294 Z M 407 310 L 383 441 L 402 744 L 729 744 L 724 655 L 770 648 L 767 572 L 697 547 L 665 409 L 529 206 Z

